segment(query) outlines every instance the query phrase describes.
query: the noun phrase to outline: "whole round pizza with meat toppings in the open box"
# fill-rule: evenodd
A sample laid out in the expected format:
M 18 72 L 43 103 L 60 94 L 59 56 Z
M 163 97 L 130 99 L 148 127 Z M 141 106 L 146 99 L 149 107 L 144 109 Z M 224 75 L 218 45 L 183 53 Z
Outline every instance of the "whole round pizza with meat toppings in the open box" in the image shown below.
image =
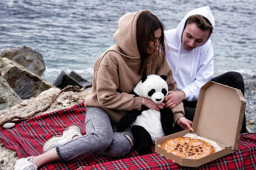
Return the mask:
M 186 159 L 200 159 L 215 153 L 214 147 L 200 139 L 191 139 L 189 137 L 178 137 L 163 142 L 161 148 L 168 153 Z

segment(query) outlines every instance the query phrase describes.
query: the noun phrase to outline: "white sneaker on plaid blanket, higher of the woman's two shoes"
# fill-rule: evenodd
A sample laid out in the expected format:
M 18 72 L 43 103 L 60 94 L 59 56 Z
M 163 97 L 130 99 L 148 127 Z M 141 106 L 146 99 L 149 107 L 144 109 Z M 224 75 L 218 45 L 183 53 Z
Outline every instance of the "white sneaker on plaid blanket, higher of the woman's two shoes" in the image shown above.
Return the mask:
M 81 130 L 76 125 L 71 125 L 66 130 L 64 130 L 63 135 L 61 136 L 53 136 L 44 144 L 43 151 L 47 152 L 58 146 L 59 144 L 66 143 L 71 141 L 74 136 L 82 136 Z

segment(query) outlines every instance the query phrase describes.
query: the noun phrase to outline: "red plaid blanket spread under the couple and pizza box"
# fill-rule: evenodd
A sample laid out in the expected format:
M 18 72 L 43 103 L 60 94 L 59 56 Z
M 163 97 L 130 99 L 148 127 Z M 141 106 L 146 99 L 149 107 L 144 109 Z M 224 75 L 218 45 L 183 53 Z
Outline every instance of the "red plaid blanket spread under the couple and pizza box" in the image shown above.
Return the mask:
M 36 116 L 32 119 L 16 121 L 12 129 L 0 127 L 0 139 L 8 149 L 15 150 L 18 158 L 37 156 L 43 153 L 44 143 L 54 135 L 61 135 L 63 130 L 76 124 L 84 130 L 84 102 L 71 108 Z M 152 146 L 154 150 L 154 146 Z M 181 167 L 171 160 L 157 153 L 138 156 L 136 150 L 132 150 L 123 159 L 111 158 L 100 154 L 91 154 L 67 162 L 55 161 L 40 167 L 39 170 L 81 170 L 91 169 L 169 169 L 169 170 L 218 170 L 218 169 L 256 169 L 256 133 L 242 135 L 239 150 L 211 161 L 197 168 Z

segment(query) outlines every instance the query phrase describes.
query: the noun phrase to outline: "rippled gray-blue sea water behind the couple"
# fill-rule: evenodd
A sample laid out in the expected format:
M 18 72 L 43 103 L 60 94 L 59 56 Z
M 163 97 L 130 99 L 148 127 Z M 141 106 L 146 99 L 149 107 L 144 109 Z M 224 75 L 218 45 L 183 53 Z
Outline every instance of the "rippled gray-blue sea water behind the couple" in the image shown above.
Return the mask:
M 238 71 L 256 75 L 255 0 L 0 0 L 0 52 L 25 45 L 44 57 L 42 78 L 53 83 L 61 71 L 92 79 L 94 61 L 111 45 L 119 18 L 148 9 L 166 29 L 192 9 L 209 6 L 214 76 Z

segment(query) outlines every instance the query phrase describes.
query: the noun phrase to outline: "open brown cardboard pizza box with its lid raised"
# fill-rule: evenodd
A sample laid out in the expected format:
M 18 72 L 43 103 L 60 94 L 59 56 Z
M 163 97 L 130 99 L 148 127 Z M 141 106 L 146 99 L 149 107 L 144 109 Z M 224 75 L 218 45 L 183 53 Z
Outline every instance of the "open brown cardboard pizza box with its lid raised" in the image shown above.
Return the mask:
M 246 101 L 241 90 L 216 82 L 207 82 L 200 90 L 191 130 L 183 130 L 159 138 L 155 142 L 155 152 L 187 167 L 198 167 L 209 161 L 230 154 L 238 149 Z M 166 140 L 182 137 L 187 133 L 196 134 L 216 142 L 222 150 L 201 159 L 183 159 L 167 153 L 160 145 Z

